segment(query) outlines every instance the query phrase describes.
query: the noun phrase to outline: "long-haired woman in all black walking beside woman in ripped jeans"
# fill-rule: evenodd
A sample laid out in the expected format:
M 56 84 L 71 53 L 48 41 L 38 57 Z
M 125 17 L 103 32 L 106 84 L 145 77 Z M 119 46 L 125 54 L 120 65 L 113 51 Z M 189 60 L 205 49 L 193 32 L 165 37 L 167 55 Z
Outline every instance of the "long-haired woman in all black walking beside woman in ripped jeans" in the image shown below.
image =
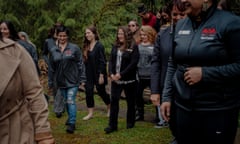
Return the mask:
M 83 60 L 86 68 L 86 103 L 88 115 L 83 120 L 89 120 L 93 117 L 94 108 L 94 85 L 99 96 L 107 105 L 108 116 L 110 114 L 110 95 L 106 92 L 107 70 L 105 50 L 95 26 L 89 26 L 85 30 L 85 39 L 83 45 Z

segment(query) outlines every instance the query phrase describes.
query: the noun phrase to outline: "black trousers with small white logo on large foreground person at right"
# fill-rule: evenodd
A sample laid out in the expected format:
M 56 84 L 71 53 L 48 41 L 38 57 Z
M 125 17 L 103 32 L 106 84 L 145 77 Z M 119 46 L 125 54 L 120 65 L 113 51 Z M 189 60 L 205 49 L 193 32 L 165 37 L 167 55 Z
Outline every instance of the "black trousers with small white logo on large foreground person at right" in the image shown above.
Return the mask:
M 238 109 L 185 111 L 176 109 L 178 144 L 233 144 L 238 125 Z

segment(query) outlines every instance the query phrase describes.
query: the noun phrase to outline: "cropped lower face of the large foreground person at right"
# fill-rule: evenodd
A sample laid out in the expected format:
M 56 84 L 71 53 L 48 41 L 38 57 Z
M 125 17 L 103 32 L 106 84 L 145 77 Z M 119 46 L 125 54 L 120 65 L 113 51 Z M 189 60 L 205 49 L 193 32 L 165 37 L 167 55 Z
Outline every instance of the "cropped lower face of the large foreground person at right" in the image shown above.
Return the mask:
M 203 8 L 203 3 L 209 0 L 181 0 L 185 6 L 185 13 L 189 16 L 198 16 Z

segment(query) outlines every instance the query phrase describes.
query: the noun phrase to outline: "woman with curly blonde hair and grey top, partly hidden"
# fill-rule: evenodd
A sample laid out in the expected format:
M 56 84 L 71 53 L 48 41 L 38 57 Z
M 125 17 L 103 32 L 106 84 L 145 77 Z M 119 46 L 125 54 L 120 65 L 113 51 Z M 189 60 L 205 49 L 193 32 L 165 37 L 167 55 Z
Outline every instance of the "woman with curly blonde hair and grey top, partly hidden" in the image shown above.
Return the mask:
M 148 25 L 142 26 L 139 30 L 141 42 L 138 45 L 138 89 L 136 95 L 136 120 L 144 120 L 144 100 L 143 91 L 150 87 L 151 79 L 151 60 L 156 38 L 156 31 Z

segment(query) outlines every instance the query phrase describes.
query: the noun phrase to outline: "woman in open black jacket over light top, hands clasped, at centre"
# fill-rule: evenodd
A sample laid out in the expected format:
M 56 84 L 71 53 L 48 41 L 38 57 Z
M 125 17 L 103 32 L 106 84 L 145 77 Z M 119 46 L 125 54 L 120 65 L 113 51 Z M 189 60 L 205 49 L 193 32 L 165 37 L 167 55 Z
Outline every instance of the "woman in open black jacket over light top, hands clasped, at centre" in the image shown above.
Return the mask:
M 134 127 L 138 59 L 139 52 L 131 31 L 126 26 L 120 26 L 117 30 L 116 43 L 112 47 L 109 60 L 108 70 L 112 81 L 111 108 L 109 125 L 104 129 L 106 133 L 117 130 L 119 99 L 123 90 L 127 100 L 127 128 Z

